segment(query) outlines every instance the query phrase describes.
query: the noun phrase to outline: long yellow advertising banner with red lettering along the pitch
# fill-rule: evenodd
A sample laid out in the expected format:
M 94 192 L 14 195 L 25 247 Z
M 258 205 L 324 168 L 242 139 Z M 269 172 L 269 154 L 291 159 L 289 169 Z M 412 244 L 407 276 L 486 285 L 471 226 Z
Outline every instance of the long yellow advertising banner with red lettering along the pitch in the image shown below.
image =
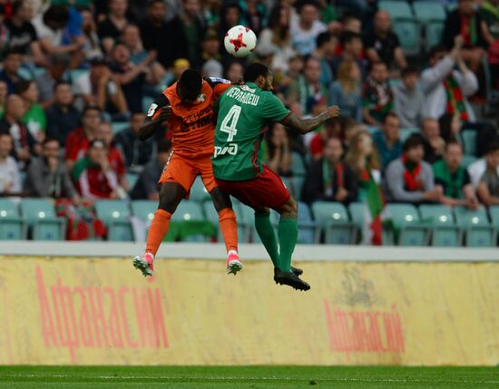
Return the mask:
M 496 365 L 499 264 L 1 258 L 2 365 Z

